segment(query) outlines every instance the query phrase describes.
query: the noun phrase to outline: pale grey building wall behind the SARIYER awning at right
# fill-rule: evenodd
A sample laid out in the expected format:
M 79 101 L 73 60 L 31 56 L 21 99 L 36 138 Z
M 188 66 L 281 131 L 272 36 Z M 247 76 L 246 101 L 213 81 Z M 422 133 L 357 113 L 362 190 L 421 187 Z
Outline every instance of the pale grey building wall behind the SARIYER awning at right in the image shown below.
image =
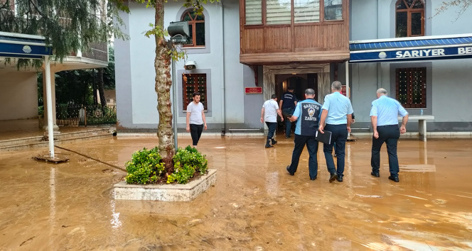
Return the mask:
M 364 0 L 353 4 L 351 1 L 350 40 L 395 38 L 395 2 Z M 426 1 L 425 35 L 472 33 L 472 8 L 460 17 L 457 16 L 458 7 L 432 16 L 441 2 Z M 435 117 L 434 122 L 428 123 L 428 130 L 472 130 L 472 113 L 456 112 L 468 107 L 466 103 L 472 91 L 472 59 L 350 64 L 350 86 L 356 118 L 353 128 L 370 127 L 370 103 L 376 99 L 377 88 L 385 88 L 389 96 L 395 97 L 395 68 L 419 65 L 427 67 L 428 75 L 427 109 L 424 109 L 424 114 Z M 419 108 L 407 111 L 414 115 L 420 113 Z M 407 130 L 417 130 L 417 122 L 411 121 Z

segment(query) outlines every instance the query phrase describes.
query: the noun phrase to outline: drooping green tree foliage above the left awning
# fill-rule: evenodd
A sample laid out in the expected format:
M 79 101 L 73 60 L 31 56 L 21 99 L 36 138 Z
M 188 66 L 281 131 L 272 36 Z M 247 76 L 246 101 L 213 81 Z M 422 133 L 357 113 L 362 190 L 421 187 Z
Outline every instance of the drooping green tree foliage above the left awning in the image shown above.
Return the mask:
M 129 12 L 122 0 L 0 0 L 0 31 L 42 35 L 53 48 L 52 59 L 62 61 L 70 52 L 86 51 L 112 36 L 127 39 L 119 30 L 124 24 L 119 11 Z M 18 67 L 30 62 L 18 60 Z

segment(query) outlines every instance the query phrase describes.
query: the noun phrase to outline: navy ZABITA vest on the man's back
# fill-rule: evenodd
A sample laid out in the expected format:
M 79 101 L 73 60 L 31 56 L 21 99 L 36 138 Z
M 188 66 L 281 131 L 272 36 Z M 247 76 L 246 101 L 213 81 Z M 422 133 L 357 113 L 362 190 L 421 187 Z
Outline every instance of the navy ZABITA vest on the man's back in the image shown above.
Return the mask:
M 314 99 L 306 99 L 300 102 L 300 108 L 300 135 L 316 135 L 321 117 L 321 104 Z

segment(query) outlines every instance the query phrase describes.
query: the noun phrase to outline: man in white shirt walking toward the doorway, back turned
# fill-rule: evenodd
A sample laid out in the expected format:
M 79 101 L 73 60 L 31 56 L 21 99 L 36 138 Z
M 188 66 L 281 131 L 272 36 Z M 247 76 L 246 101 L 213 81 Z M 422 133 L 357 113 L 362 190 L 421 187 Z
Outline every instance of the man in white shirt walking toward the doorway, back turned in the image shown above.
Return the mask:
M 284 121 L 284 117 L 277 104 L 277 95 L 273 94 L 271 99 L 264 102 L 261 110 L 261 123 L 266 123 L 269 132 L 267 132 L 267 143 L 266 148 L 274 147 L 277 144 L 277 140 L 274 140 L 275 129 L 277 128 L 277 114 L 279 114 L 281 121 Z M 272 145 L 270 145 L 272 141 Z

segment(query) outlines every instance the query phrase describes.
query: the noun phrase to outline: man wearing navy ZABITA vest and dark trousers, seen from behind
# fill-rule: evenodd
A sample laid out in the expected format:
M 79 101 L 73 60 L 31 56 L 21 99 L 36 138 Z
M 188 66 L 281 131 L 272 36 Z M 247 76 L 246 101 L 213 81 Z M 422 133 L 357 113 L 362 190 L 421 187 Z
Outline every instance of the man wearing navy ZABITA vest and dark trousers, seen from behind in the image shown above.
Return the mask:
M 315 90 L 306 89 L 305 100 L 296 104 L 294 114 L 289 118 L 290 121 L 296 121 L 295 128 L 295 147 L 291 155 L 291 164 L 286 167 L 290 175 L 294 175 L 301 152 L 308 149 L 310 158 L 308 162 L 308 169 L 310 179 L 315 180 L 318 175 L 318 140 L 316 140 L 316 130 L 318 130 L 318 123 L 320 121 L 321 104 L 315 101 Z

